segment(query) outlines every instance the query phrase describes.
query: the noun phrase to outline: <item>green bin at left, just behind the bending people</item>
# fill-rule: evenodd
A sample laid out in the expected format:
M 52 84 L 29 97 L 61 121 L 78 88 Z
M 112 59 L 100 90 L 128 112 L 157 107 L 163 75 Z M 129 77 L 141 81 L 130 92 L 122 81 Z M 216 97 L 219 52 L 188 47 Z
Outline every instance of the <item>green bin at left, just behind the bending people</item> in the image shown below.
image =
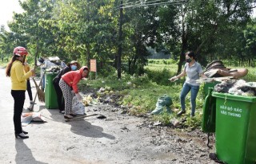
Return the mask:
M 58 109 L 57 95 L 54 89 L 53 80 L 58 73 L 46 72 L 45 101 L 47 109 Z

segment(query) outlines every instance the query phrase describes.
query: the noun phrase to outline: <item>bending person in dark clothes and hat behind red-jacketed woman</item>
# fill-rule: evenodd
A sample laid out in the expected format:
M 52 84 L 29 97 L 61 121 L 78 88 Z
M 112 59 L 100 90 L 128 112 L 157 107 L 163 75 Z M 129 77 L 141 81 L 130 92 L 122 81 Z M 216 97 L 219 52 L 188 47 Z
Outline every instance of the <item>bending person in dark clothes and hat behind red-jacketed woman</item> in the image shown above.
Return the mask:
M 54 77 L 53 84 L 57 95 L 58 109 L 59 112 L 62 114 L 64 114 L 65 103 L 63 99 L 62 89 L 58 85 L 59 80 L 61 80 L 62 75 L 64 75 L 66 72 L 76 71 L 79 68 L 80 64 L 78 64 L 78 61 L 71 61 L 69 64 L 67 64 L 65 68 L 62 68 L 62 70 L 58 73 L 56 77 Z

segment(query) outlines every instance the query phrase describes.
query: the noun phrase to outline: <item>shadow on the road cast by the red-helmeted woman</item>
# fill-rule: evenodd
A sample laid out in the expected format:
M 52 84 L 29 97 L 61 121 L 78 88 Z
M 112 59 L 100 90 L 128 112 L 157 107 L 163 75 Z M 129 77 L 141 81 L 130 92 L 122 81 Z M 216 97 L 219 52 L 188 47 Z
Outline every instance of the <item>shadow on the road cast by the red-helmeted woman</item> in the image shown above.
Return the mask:
M 15 148 L 17 151 L 15 162 L 17 164 L 34 163 L 34 164 L 47 164 L 45 162 L 38 162 L 33 157 L 33 154 L 28 146 L 23 142 L 23 139 L 15 139 Z

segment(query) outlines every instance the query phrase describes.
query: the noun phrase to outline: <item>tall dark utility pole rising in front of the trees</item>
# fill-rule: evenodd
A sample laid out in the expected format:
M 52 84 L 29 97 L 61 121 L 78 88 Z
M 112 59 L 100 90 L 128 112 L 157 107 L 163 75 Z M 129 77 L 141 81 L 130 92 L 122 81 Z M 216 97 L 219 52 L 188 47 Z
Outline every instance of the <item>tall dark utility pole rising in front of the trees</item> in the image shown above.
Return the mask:
M 119 17 L 119 38 L 118 38 L 118 79 L 121 79 L 121 63 L 122 63 L 122 1 L 120 4 Z

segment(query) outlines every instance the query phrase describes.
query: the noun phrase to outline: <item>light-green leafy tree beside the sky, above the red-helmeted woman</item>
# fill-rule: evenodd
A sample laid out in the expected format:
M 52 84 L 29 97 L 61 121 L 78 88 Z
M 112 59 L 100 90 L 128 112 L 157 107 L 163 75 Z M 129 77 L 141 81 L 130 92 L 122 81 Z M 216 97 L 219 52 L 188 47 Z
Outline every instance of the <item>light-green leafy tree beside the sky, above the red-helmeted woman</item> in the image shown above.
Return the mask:
M 14 21 L 10 22 L 10 30 L 15 35 L 18 45 L 25 45 L 29 53 L 34 55 L 34 64 L 39 54 L 49 56 L 47 48 L 49 41 L 53 40 L 50 30 L 46 30 L 40 22 L 51 18 L 52 2 L 50 0 L 27 0 L 20 2 L 24 12 L 14 14 Z

